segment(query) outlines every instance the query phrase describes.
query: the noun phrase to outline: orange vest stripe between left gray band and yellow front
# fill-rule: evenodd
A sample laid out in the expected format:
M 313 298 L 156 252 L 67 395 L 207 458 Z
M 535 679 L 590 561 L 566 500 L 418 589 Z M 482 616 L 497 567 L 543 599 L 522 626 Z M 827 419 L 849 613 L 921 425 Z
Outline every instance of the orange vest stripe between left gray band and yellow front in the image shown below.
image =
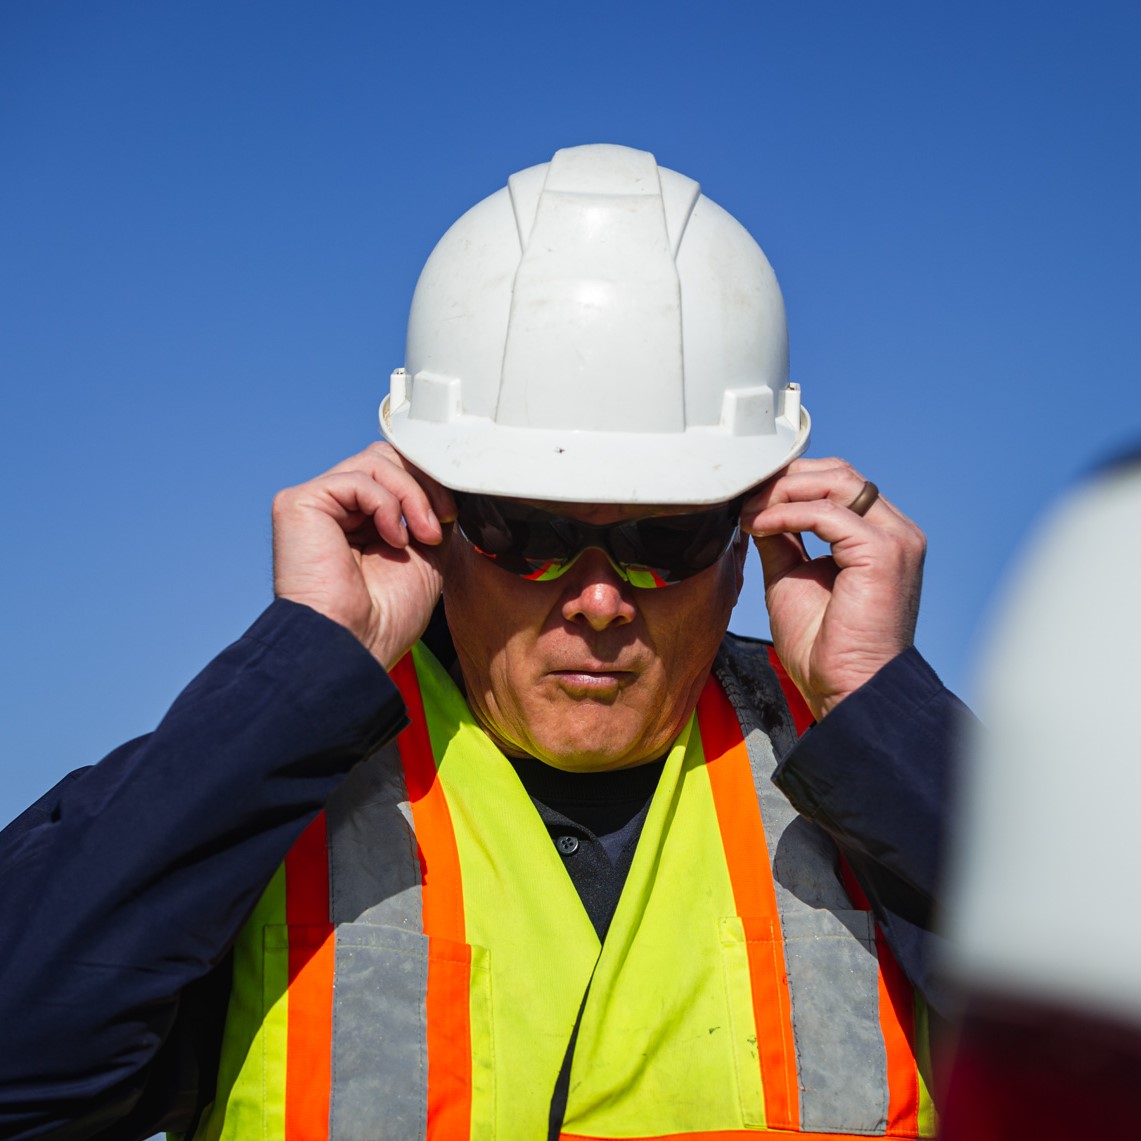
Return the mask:
M 466 946 L 460 857 L 436 778 L 412 655 L 405 654 L 390 672 L 408 711 L 410 725 L 396 743 L 416 833 L 428 936 L 428 1135 L 456 1141 L 471 1132 L 471 950 Z

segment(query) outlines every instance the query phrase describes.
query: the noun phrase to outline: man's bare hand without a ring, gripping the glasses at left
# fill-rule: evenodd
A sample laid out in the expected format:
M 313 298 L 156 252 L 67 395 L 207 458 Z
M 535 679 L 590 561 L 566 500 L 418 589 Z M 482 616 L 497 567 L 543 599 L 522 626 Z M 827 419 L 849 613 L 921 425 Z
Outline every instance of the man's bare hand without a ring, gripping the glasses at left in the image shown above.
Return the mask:
M 350 630 L 385 669 L 423 633 L 443 589 L 451 493 L 372 444 L 274 499 L 274 593 Z

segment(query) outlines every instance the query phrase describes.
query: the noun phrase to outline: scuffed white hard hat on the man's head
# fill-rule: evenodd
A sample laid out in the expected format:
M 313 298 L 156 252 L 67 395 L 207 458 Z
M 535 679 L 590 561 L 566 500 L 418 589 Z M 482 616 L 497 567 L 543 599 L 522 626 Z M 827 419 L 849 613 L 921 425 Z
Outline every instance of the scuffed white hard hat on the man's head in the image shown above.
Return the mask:
M 717 503 L 798 456 L 809 419 L 760 246 L 693 179 L 596 145 L 444 235 L 380 427 L 459 491 Z

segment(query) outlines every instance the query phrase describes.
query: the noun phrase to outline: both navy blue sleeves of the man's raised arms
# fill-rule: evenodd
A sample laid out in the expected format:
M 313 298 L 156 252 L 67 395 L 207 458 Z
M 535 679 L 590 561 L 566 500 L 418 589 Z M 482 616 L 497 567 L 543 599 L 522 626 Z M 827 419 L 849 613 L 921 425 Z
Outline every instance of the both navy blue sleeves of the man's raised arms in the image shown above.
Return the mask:
M 960 710 L 909 652 L 777 774 L 836 836 L 931 994 L 923 928 Z M 339 782 L 404 723 L 348 631 L 278 600 L 153 734 L 0 833 L 0 1138 L 189 1125 L 213 1079 L 234 937 Z

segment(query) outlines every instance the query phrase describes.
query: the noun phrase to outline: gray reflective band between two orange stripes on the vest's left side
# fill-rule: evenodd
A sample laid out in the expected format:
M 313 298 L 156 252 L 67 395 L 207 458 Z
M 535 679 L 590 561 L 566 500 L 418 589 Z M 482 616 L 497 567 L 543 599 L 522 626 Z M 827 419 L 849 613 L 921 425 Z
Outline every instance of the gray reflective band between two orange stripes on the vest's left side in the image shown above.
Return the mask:
M 331 1141 L 419 1141 L 428 1117 L 428 939 L 399 752 L 358 764 L 325 809 L 337 924 Z

